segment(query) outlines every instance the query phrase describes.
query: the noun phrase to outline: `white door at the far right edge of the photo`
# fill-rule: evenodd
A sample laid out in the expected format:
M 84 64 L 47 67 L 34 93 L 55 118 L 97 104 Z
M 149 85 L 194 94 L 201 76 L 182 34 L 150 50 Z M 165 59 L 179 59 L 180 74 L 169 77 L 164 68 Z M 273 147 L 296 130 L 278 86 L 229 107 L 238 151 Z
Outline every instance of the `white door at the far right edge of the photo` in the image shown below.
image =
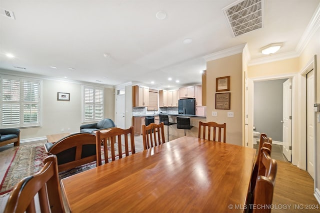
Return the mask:
M 306 170 L 314 180 L 314 72 L 306 74 Z

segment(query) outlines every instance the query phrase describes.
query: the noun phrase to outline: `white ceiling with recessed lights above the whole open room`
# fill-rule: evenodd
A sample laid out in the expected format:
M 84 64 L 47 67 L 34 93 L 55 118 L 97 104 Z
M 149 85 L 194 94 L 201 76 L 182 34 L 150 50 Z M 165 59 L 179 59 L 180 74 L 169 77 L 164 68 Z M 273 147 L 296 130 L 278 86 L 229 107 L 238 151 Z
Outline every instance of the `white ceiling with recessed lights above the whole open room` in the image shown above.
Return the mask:
M 0 15 L 0 68 L 110 86 L 201 83 L 204 56 L 239 44 L 247 43 L 249 64 L 296 55 L 320 0 L 265 0 L 263 27 L 236 37 L 222 12 L 233 2 L 1 0 L 15 19 Z M 157 19 L 158 11 L 166 17 Z M 260 53 L 278 42 L 274 55 Z

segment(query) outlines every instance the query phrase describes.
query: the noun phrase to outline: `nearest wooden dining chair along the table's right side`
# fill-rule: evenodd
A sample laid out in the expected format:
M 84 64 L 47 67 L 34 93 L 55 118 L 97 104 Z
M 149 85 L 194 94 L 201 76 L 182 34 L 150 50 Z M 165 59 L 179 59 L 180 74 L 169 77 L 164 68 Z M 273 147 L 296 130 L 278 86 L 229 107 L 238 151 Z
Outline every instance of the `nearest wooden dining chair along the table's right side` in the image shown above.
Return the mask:
M 272 204 L 274 181 L 277 164 L 271 159 L 268 148 L 261 148 L 259 172 L 252 193 L 251 203 L 254 206 L 268 207 Z M 250 212 L 250 211 L 249 211 Z M 270 213 L 271 209 L 254 208 L 252 213 Z

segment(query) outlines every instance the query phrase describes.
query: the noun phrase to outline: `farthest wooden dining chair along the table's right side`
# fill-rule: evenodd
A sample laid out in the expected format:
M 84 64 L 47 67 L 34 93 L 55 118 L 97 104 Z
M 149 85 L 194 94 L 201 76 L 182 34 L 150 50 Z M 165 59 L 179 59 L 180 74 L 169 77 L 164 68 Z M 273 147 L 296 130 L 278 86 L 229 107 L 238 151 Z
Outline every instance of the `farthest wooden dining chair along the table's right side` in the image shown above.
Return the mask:
M 261 133 L 260 134 L 260 142 L 259 142 L 259 147 L 258 147 L 258 153 L 256 155 L 256 159 L 254 162 L 253 170 L 252 170 L 252 175 L 251 175 L 251 181 L 250 181 L 250 192 L 253 191 L 256 178 L 258 176 L 258 167 L 259 167 L 259 162 L 260 162 L 260 155 L 261 155 L 261 149 L 263 147 L 268 148 L 269 154 L 271 155 L 271 148 L 272 148 L 272 139 L 270 137 L 267 137 L 266 134 Z

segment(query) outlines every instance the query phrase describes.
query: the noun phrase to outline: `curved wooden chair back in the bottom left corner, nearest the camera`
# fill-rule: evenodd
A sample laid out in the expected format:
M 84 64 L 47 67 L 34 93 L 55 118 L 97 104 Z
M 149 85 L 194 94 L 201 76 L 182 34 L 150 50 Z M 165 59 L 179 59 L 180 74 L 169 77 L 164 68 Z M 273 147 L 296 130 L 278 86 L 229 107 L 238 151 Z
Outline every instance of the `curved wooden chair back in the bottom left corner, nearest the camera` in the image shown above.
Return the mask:
M 49 155 L 44 159 L 44 166 L 39 172 L 23 178 L 15 185 L 5 205 L 4 213 L 35 212 L 36 194 L 41 213 L 65 212 L 55 155 Z

